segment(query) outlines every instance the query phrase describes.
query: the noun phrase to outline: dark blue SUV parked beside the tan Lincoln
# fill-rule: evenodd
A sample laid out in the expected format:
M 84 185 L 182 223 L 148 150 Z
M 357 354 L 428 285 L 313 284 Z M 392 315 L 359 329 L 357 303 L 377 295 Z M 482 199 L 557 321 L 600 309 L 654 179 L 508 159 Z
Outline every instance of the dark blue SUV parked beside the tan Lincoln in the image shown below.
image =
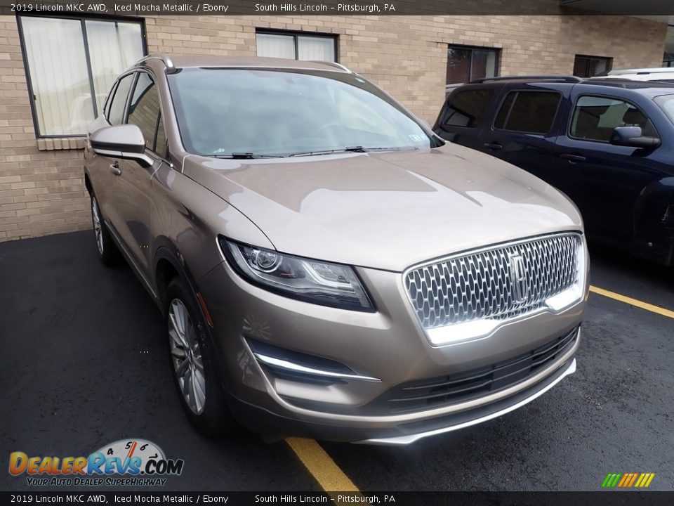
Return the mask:
M 449 95 L 433 129 L 562 190 L 590 239 L 674 263 L 674 84 L 482 79 Z

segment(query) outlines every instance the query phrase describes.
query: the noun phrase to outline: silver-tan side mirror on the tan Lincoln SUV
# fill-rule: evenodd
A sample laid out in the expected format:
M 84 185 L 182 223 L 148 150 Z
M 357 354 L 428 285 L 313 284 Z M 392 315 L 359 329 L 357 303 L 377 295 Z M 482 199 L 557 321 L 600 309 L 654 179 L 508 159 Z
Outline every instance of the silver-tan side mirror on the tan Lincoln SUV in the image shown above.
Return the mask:
M 93 152 L 112 158 L 136 160 L 142 167 L 151 167 L 154 161 L 145 155 L 145 137 L 134 124 L 105 126 L 89 136 Z

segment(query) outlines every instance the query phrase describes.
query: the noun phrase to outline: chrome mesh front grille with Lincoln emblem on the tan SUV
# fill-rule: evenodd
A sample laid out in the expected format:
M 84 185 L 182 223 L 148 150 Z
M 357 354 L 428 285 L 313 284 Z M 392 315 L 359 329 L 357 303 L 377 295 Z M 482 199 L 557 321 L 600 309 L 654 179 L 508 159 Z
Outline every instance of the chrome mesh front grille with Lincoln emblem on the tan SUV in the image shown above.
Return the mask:
M 535 311 L 571 287 L 580 245 L 576 233 L 511 243 L 414 268 L 404 283 L 425 329 L 503 320 Z

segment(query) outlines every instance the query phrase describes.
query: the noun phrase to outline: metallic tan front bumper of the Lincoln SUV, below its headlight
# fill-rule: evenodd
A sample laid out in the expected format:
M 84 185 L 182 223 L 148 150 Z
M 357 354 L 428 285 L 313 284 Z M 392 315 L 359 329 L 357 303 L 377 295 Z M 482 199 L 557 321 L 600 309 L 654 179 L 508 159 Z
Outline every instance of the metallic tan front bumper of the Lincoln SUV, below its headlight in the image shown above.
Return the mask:
M 543 311 L 498 327 L 484 339 L 432 346 L 407 301 L 399 273 L 359 268 L 376 313 L 296 301 L 250 285 L 223 262 L 199 281 L 213 319 L 213 344 L 232 410 L 270 439 L 309 436 L 333 441 L 407 444 L 490 420 L 552 388 L 574 372 L 587 294 L 562 313 Z M 586 287 L 587 290 L 587 287 Z M 477 398 L 421 410 L 373 411 L 407 382 L 453 375 L 522 356 L 577 329 L 572 346 L 526 379 Z M 358 378 L 303 382 L 261 363 L 251 339 L 345 364 Z

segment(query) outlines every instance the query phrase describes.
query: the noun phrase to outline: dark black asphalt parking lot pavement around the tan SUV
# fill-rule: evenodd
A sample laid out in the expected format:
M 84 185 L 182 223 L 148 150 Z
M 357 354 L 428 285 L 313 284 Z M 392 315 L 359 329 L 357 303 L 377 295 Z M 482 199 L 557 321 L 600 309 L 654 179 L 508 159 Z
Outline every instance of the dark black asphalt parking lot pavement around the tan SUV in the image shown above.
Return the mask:
M 592 284 L 674 309 L 674 271 L 593 247 Z M 674 319 L 590 295 L 578 370 L 520 410 L 403 448 L 320 443 L 362 491 L 564 491 L 609 472 L 674 490 Z M 161 490 L 319 491 L 284 442 L 204 439 L 174 391 L 159 309 L 93 232 L 0 243 L 0 490 L 11 452 L 143 438 L 185 460 Z

